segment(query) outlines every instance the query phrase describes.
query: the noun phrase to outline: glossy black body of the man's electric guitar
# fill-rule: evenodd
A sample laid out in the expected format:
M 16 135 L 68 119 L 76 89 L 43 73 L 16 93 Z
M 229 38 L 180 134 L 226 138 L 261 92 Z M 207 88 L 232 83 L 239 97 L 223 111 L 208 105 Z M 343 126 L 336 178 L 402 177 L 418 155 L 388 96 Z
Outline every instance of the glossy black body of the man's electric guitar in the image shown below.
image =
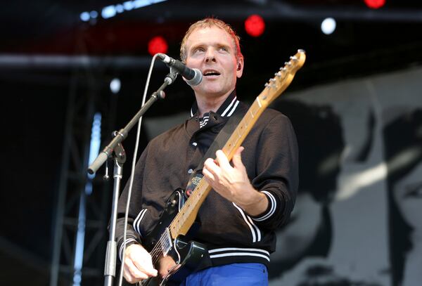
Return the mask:
M 184 190 L 175 190 L 172 195 L 170 195 L 169 200 L 167 200 L 167 206 L 162 213 L 157 226 L 155 226 L 151 234 L 148 235 L 148 238 L 145 240 L 144 246 L 148 252 L 151 253 L 153 261 L 160 261 L 160 258 L 162 257 L 162 252 L 154 252 L 152 250 L 153 247 L 155 247 L 157 243 L 160 243 L 160 235 L 165 233 L 166 228 L 170 226 L 170 223 L 172 223 L 185 201 Z M 207 248 L 199 242 L 188 241 L 184 235 L 179 235 L 176 239 L 172 240 L 171 250 L 167 255 L 173 257 L 176 266 L 172 268 L 165 278 L 150 278 L 148 280 L 143 280 L 140 285 L 180 285 L 187 275 L 196 270 L 201 259 L 207 255 Z M 171 280 L 169 280 L 170 277 Z

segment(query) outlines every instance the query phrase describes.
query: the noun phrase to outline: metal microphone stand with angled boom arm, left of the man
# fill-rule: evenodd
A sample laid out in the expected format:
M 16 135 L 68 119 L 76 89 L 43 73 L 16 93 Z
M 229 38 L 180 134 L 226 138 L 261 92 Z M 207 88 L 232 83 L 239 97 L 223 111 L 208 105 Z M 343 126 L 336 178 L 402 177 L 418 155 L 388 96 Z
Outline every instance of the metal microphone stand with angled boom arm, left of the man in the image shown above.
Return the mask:
M 111 209 L 111 218 L 110 218 L 110 233 L 109 240 L 107 242 L 106 250 L 106 263 L 104 267 L 104 285 L 112 286 L 113 280 L 115 278 L 115 269 L 116 269 L 116 254 L 117 254 L 117 242 L 115 240 L 115 231 L 116 231 L 116 221 L 117 221 L 117 202 L 120 193 L 120 181 L 122 180 L 123 174 L 123 164 L 126 161 L 126 154 L 124 152 L 122 141 L 127 137 L 127 134 L 132 129 L 132 127 L 139 122 L 141 116 L 148 110 L 155 101 L 158 99 L 165 98 L 164 89 L 172 84 L 176 80 L 177 70 L 174 70 L 170 67 L 170 72 L 164 79 L 164 83 L 160 88 L 155 91 L 151 98 L 141 107 L 136 115 L 130 120 L 130 122 L 124 126 L 124 128 L 119 131 L 113 132 L 113 140 L 106 146 L 106 148 L 101 151 L 101 153 L 96 157 L 94 162 L 88 167 L 88 173 L 94 174 L 98 169 L 107 161 L 108 157 L 113 157 L 114 160 L 114 185 L 113 185 L 113 202 Z

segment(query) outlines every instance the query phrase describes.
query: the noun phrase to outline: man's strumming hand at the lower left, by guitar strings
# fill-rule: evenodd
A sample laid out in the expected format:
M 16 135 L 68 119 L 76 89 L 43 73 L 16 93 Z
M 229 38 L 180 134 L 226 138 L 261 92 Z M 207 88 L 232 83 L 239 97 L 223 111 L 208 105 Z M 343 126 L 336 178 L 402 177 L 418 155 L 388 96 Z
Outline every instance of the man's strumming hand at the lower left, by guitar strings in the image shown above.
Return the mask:
M 129 245 L 124 252 L 123 277 L 129 283 L 157 276 L 151 255 L 141 245 Z

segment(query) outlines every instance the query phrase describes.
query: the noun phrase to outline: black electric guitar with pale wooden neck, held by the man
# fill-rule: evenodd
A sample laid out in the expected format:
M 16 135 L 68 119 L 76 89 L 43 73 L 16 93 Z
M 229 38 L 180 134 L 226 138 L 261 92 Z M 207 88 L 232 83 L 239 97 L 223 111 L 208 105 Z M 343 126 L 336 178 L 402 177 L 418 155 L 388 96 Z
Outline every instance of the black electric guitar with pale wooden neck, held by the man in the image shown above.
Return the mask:
M 298 53 L 290 57 L 290 60 L 285 63 L 284 67 L 280 68 L 274 78 L 269 79 L 269 82 L 265 84 L 264 90 L 255 98 L 248 112 L 246 112 L 222 148 L 222 151 L 229 160 L 231 160 L 234 152 L 243 143 L 250 129 L 252 129 L 252 126 L 265 108 L 278 98 L 289 86 L 290 82 L 293 81 L 295 73 L 305 63 L 305 58 L 305 51 L 298 50 Z M 181 282 L 186 278 L 188 273 L 195 271 L 196 267 L 200 264 L 200 260 L 203 256 L 207 255 L 205 245 L 188 241 L 185 239 L 185 235 L 193 225 L 198 210 L 204 202 L 205 197 L 210 193 L 210 190 L 211 186 L 205 180 L 201 180 L 187 200 L 185 200 L 184 191 L 181 189 L 177 189 L 172 193 L 167 201 L 167 207 L 162 216 L 160 216 L 158 225 L 151 235 L 148 235 L 148 239 L 144 245 L 150 252 L 154 265 L 158 264 L 158 261 L 163 256 L 172 254 L 175 258 L 176 266 L 164 278 L 149 278 L 140 282 L 139 285 L 168 285 L 167 282 L 170 282 L 169 279 L 172 275 L 172 280 L 175 276 L 181 276 L 181 280 L 177 281 Z M 177 275 L 174 275 L 175 273 Z M 180 273 L 186 273 L 186 275 L 179 275 Z

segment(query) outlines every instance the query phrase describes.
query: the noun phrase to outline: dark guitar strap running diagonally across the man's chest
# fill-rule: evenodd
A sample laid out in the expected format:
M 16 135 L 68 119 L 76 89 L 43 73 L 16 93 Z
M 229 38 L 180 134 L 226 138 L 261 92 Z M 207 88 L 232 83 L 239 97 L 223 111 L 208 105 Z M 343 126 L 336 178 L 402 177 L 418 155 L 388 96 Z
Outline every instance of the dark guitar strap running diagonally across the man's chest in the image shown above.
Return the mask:
M 239 122 L 241 122 L 241 119 L 245 115 L 246 111 L 247 110 L 243 108 L 237 108 L 234 114 L 231 115 L 229 120 L 226 122 L 226 125 L 223 126 L 221 131 L 219 131 L 219 134 L 217 134 L 217 136 L 215 137 L 214 141 L 210 145 L 210 148 L 208 148 L 207 152 L 205 152 L 205 155 L 203 155 L 202 159 L 200 160 L 198 167 L 193 170 L 191 177 L 188 181 L 188 186 L 186 186 L 186 197 L 189 197 L 191 195 L 192 191 L 196 188 L 196 186 L 198 186 L 198 183 L 203 177 L 201 171 L 204 167 L 205 160 L 207 160 L 207 158 L 215 157 L 215 152 L 224 147 L 226 142 L 229 140 L 231 134 L 233 134 L 233 131 L 238 126 Z

